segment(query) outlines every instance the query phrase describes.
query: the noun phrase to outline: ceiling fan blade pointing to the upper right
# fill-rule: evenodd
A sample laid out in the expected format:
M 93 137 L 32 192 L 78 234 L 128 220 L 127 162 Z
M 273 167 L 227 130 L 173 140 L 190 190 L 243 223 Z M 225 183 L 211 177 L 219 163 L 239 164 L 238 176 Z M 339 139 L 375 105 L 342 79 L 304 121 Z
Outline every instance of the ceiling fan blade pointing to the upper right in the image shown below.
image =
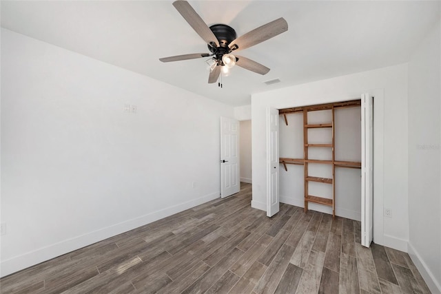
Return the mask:
M 278 34 L 286 32 L 288 30 L 288 23 L 283 17 L 271 21 L 266 25 L 262 25 L 242 36 L 239 36 L 236 40 L 229 43 L 228 47 L 232 50 L 238 51 L 245 48 L 249 48 L 263 41 L 267 41 Z M 237 49 L 234 49 L 237 46 Z

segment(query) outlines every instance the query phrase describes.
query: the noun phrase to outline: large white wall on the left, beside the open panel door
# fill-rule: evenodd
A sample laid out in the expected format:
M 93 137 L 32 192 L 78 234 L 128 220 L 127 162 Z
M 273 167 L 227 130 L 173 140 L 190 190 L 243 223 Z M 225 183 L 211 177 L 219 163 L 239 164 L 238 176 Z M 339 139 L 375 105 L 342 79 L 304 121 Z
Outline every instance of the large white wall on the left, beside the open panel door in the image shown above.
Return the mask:
M 218 198 L 233 107 L 3 29 L 1 85 L 2 276 Z

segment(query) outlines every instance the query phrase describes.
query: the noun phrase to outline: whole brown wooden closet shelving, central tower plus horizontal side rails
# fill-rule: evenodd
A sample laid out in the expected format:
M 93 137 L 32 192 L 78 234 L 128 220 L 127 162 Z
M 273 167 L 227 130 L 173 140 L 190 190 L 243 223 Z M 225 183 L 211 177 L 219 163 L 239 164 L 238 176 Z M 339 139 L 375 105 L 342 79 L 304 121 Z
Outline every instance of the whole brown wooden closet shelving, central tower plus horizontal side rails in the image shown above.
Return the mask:
M 360 99 L 346 102 L 338 102 L 338 103 L 328 103 L 322 105 L 313 105 L 313 106 L 305 106 L 305 107 L 292 107 L 287 109 L 280 109 L 279 114 L 283 115 L 285 118 L 285 123 L 288 125 L 287 114 L 294 114 L 302 112 L 303 114 L 303 158 L 279 158 L 279 162 L 283 164 L 285 171 L 287 171 L 287 165 L 303 165 L 303 175 L 305 180 L 304 187 L 304 198 L 305 198 L 305 212 L 308 211 L 309 202 L 322 204 L 329 207 L 332 207 L 332 216 L 335 218 L 336 216 L 336 167 L 346 167 L 352 169 L 361 169 L 361 162 L 354 161 L 341 161 L 336 160 L 335 153 L 335 109 L 336 108 L 345 108 L 345 107 L 357 107 L 361 105 Z M 331 110 L 332 112 L 332 121 L 331 123 L 322 123 L 322 124 L 308 124 L 308 112 L 314 112 L 318 110 Z M 320 143 L 320 144 L 310 144 L 308 143 L 308 129 L 314 128 L 331 128 L 332 139 L 331 143 Z M 331 160 L 318 160 L 314 158 L 309 158 L 308 149 L 311 147 L 328 147 L 331 148 L 332 158 Z M 318 178 L 315 176 L 310 176 L 308 173 L 308 165 L 309 163 L 315 164 L 323 164 L 323 165 L 331 165 L 332 166 L 332 178 Z M 332 198 L 322 198 L 319 196 L 309 195 L 309 182 L 321 182 L 325 184 L 332 185 Z

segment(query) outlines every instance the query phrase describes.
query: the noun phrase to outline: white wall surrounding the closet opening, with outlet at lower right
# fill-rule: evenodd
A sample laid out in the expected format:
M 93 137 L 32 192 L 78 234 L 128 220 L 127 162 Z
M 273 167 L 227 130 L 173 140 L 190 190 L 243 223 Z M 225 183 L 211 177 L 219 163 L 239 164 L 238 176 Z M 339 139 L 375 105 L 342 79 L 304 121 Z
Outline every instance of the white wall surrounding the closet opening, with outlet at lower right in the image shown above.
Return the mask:
M 252 95 L 252 206 L 266 209 L 266 108 L 347 101 L 365 92 L 378 94 L 374 102 L 374 241 L 407 251 L 407 64 Z M 392 218 L 383 218 L 383 207 L 393 211 Z

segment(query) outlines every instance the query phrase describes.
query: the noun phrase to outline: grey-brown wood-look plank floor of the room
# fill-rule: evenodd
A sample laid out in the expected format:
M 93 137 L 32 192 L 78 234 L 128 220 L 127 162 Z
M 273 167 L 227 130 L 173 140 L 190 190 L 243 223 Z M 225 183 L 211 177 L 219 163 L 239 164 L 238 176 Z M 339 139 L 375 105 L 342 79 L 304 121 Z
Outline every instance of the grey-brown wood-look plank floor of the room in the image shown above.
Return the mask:
M 0 280 L 1 293 L 430 293 L 409 255 L 360 245 L 360 222 L 281 204 L 251 185 Z

